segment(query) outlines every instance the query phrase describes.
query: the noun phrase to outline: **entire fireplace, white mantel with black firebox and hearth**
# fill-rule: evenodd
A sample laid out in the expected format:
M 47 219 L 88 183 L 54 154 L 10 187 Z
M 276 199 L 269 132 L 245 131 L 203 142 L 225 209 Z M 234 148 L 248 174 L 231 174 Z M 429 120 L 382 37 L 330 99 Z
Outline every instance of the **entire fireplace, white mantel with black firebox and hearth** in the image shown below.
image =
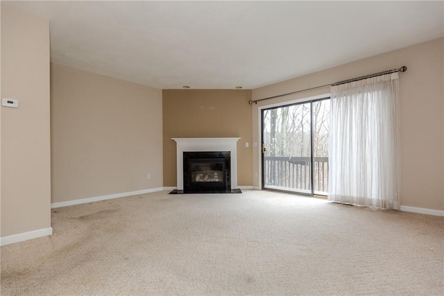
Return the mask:
M 212 193 L 241 193 L 240 189 L 237 188 L 237 141 L 239 139 L 172 138 L 177 143 L 177 189 L 171 191 L 171 193 L 205 192 L 203 189 L 196 190 L 194 186 L 207 187 L 207 192 Z M 188 155 L 188 153 L 199 153 L 197 157 L 191 157 L 191 164 L 187 164 L 189 157 L 185 160 L 185 155 Z M 224 155 L 223 158 L 225 158 L 223 164 L 221 163 L 221 155 Z M 210 161 L 210 159 L 212 160 Z M 190 165 L 196 171 L 195 173 L 188 173 Z M 188 166 L 186 170 L 185 166 Z M 229 171 L 227 172 L 227 170 Z M 187 171 L 187 177 L 185 177 L 185 171 Z M 211 173 L 213 175 L 210 175 Z M 190 179 L 191 177 L 194 179 Z M 191 189 L 189 187 L 185 189 L 187 182 L 191 184 Z

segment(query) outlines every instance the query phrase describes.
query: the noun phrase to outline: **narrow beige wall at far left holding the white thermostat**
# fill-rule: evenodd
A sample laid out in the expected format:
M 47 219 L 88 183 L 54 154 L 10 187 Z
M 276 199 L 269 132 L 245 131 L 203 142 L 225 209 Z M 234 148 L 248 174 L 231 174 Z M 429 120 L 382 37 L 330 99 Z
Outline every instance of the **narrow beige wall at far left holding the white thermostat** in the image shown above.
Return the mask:
M 1 236 L 51 227 L 49 21 L 1 3 Z

